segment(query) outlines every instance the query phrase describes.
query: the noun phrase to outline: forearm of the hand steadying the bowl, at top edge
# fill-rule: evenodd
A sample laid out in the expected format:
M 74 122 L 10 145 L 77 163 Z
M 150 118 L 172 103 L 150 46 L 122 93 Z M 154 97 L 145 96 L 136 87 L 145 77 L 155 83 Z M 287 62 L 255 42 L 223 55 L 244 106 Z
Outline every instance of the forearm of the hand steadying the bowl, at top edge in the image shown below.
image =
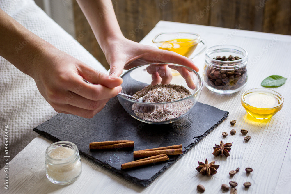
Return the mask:
M 105 53 L 106 47 L 111 40 L 123 37 L 111 1 L 77 0 L 77 2 Z

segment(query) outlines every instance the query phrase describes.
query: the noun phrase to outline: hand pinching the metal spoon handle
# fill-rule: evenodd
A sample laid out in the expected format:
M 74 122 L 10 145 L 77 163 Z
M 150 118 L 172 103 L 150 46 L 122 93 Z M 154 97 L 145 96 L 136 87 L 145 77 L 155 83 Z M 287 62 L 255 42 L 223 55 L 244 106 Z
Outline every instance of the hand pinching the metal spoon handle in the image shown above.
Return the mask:
M 94 70 L 56 48 L 37 54 L 31 75 L 55 111 L 85 118 L 92 118 L 121 91 L 121 78 Z

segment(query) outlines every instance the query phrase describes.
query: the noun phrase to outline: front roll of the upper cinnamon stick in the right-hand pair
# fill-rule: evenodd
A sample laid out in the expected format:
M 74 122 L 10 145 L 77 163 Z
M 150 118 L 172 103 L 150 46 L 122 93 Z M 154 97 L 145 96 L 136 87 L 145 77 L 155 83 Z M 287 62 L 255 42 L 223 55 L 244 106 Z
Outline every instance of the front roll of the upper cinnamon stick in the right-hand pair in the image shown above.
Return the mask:
M 151 151 L 134 151 L 133 157 L 134 158 L 145 158 L 149 156 L 156 156 L 159 154 L 167 154 L 167 155 L 179 155 L 182 154 L 182 148 L 178 149 L 162 149 L 162 150 L 151 150 Z

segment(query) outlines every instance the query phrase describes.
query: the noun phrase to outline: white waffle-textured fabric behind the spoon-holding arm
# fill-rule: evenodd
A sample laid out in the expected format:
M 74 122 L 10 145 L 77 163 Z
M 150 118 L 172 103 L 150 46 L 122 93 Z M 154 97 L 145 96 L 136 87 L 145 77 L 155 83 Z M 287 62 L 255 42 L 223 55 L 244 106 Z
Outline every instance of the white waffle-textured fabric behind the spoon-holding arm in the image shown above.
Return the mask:
M 0 0 L 0 8 L 58 49 L 96 70 L 106 72 L 106 69 L 84 47 L 49 18 L 34 1 Z M 80 32 L 76 36 L 82 38 L 86 34 Z M 15 46 L 19 47 L 19 45 Z M 5 125 L 9 126 L 7 156 L 10 156 L 11 160 L 37 136 L 32 129 L 56 114 L 39 93 L 34 80 L 0 56 L 0 169 L 3 167 Z

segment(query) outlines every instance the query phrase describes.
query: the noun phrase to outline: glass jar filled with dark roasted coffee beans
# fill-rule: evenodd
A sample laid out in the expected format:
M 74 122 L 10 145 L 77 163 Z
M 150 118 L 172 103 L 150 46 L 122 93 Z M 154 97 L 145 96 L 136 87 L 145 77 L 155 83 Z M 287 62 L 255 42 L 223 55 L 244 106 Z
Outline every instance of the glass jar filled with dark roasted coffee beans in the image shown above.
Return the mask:
M 219 60 L 218 60 L 219 59 Z M 217 45 L 205 52 L 204 83 L 219 94 L 232 94 L 246 86 L 248 52 L 233 45 Z

